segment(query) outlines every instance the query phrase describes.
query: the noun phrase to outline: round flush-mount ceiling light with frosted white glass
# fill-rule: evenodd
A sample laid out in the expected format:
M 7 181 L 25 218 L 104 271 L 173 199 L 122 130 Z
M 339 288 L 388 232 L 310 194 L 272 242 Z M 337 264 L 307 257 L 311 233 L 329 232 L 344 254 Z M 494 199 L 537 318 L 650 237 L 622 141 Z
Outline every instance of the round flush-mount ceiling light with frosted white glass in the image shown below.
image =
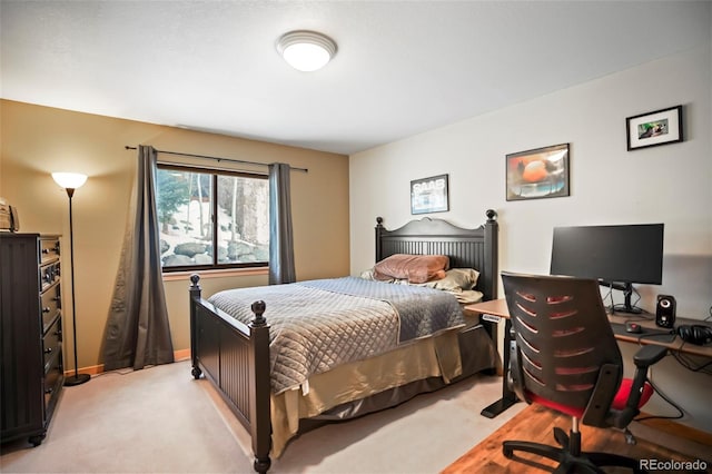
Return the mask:
M 290 31 L 277 41 L 277 51 L 299 71 L 316 71 L 336 55 L 334 40 L 316 31 Z

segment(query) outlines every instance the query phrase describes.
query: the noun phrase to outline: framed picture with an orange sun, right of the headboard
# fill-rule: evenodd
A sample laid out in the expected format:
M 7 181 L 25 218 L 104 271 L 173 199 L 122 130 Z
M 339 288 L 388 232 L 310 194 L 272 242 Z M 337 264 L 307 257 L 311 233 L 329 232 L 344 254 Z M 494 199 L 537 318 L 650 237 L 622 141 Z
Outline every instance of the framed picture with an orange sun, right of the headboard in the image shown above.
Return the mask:
M 568 196 L 568 144 L 507 155 L 507 200 Z

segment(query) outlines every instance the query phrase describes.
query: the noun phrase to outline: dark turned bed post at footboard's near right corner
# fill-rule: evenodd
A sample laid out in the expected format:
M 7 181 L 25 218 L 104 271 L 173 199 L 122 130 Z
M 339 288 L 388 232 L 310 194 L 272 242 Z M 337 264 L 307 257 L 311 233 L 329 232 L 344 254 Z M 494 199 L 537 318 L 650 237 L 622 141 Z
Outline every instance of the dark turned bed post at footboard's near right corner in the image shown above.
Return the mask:
M 254 468 L 258 473 L 266 473 L 271 465 L 269 450 L 271 447 L 271 421 L 269 414 L 269 395 L 271 391 L 269 369 L 269 325 L 265 319 L 265 302 L 253 303 L 255 318 L 249 323 L 250 328 L 250 367 L 249 386 L 254 388 L 249 402 L 250 434 L 253 437 L 253 453 L 255 453 Z

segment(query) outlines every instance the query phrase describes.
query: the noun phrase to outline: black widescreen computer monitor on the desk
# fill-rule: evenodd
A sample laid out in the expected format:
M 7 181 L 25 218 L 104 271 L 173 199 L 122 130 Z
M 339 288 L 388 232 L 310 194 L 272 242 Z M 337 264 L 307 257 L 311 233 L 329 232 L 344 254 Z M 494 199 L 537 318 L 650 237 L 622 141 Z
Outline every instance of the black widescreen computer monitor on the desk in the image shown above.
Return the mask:
M 555 227 L 551 274 L 594 278 L 623 290 L 620 310 L 640 313 L 631 305 L 633 284 L 662 284 L 663 233 L 664 224 Z

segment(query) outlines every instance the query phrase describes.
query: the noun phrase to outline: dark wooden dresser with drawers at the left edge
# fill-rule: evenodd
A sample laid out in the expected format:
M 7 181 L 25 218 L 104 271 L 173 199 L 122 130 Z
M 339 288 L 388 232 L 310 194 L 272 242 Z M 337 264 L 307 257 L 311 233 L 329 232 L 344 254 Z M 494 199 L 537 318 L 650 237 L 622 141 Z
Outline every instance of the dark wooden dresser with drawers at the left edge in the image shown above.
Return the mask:
M 0 234 L 2 443 L 42 443 L 65 375 L 59 236 Z

